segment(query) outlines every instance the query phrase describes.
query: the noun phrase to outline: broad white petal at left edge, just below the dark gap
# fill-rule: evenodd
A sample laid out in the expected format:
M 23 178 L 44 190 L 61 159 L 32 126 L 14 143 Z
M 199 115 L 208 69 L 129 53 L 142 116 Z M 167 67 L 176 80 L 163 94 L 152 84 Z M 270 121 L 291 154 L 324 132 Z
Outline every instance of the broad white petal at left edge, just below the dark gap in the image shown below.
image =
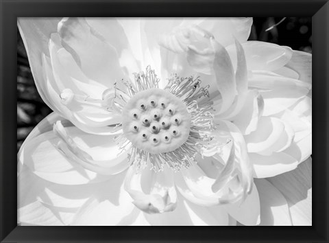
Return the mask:
M 49 128 L 46 122 L 40 126 Z M 35 130 L 38 130 L 38 126 Z M 41 130 L 45 128 L 41 127 Z M 48 181 L 67 185 L 106 181 L 106 174 L 117 174 L 127 168 L 126 154 L 117 156 L 120 150 L 113 136 L 90 135 L 75 127 L 64 128 L 62 125 L 57 130 L 60 130 L 57 133 L 64 130 L 61 135 L 66 136 L 71 148 L 61 141 L 60 135 L 46 130 L 40 135 L 29 137 L 23 144 L 19 163 Z

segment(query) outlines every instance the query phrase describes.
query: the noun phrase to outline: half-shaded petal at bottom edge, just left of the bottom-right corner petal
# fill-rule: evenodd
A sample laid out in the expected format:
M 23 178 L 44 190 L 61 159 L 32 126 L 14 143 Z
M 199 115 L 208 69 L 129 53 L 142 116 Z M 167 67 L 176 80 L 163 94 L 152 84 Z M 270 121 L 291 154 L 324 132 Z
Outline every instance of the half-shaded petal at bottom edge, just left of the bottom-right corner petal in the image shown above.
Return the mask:
M 287 200 L 271 183 L 265 179 L 255 179 L 260 198 L 260 225 L 291 225 Z

